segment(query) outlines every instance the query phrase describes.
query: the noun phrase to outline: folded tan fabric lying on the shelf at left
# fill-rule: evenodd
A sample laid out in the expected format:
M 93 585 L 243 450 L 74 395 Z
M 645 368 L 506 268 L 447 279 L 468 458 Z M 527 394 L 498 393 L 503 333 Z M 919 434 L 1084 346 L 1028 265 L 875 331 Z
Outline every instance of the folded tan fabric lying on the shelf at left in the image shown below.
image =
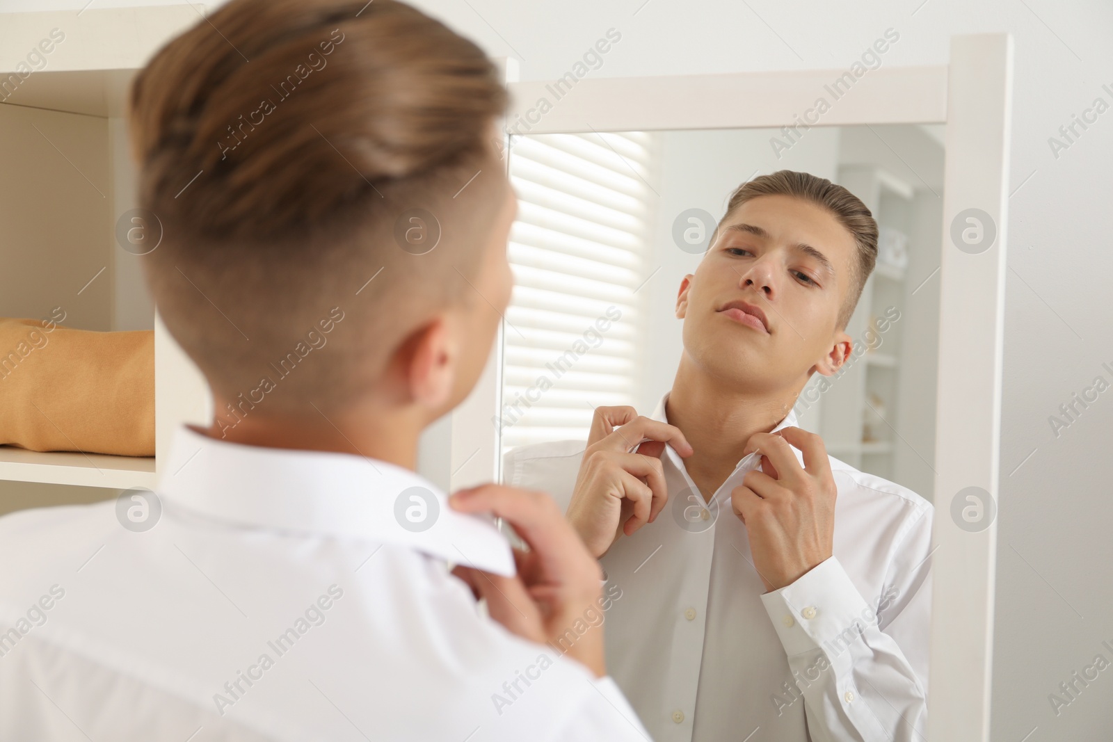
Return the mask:
M 0 318 L 0 444 L 154 456 L 154 330 Z

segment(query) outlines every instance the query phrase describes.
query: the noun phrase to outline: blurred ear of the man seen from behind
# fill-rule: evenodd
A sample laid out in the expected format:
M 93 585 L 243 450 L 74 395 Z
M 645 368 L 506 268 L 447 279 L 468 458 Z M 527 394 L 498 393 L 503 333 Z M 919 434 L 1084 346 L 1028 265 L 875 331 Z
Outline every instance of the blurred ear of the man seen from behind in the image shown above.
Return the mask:
M 440 409 L 452 396 L 460 347 L 443 316 L 415 329 L 395 357 L 410 397 L 423 407 Z

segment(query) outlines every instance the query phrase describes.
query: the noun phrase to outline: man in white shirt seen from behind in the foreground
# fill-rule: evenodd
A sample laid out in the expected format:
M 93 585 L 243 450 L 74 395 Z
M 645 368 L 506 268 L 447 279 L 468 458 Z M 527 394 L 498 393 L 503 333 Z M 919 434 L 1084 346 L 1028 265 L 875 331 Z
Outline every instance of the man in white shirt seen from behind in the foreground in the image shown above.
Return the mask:
M 510 296 L 504 103 L 392 0 L 233 0 L 139 75 L 144 269 L 215 414 L 157 493 L 0 518 L 0 740 L 643 738 L 552 501 L 414 473 Z

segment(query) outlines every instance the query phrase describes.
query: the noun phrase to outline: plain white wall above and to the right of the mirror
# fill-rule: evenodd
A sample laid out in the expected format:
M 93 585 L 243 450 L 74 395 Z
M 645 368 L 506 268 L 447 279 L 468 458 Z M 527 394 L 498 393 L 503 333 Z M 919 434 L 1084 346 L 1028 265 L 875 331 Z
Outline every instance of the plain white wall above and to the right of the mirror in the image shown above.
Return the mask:
M 97 7 L 136 4 L 96 0 Z M 85 0 L 0 0 L 0 11 Z M 139 3 L 156 4 L 156 3 Z M 169 2 L 157 4 L 173 4 Z M 1056 437 L 1048 416 L 1097 375 L 1113 382 L 1113 111 L 1055 157 L 1048 138 L 1113 96 L 1113 3 L 1105 0 L 420 0 L 522 79 L 563 75 L 613 27 L 595 76 L 848 67 L 894 28 L 885 65 L 947 61 L 954 33 L 1016 41 L 1011 255 L 1006 291 L 1002 502 L 993 739 L 1107 739 L 1113 669 L 1055 715 L 1047 696 L 1113 644 L 1113 390 Z M 1072 137 L 1073 138 L 1073 137 Z M 1034 453 L 1033 453 L 1034 452 Z M 1031 455 L 1030 458 L 1026 458 Z M 1026 461 L 1025 461 L 1026 459 Z M 1023 464 L 1022 464 L 1023 462 Z M 1020 468 L 1017 468 L 1020 467 Z M 1015 469 L 1015 472 L 1014 472 Z

